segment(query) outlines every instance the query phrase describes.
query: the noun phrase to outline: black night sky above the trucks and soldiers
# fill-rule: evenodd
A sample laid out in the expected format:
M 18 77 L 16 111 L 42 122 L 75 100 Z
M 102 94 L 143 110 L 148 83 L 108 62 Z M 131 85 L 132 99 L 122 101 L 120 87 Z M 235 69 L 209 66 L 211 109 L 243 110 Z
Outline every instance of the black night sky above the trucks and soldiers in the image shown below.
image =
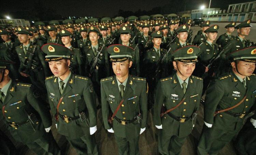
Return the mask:
M 2 0 L 0 17 L 24 18 L 28 20 L 52 20 L 67 16 L 114 17 L 122 15 L 144 15 L 143 13 L 169 14 L 208 7 L 210 0 Z M 191 3 L 193 2 L 193 3 Z M 229 4 L 244 0 L 212 0 L 211 7 L 227 9 Z M 120 11 L 122 10 L 122 11 Z M 140 10 L 140 11 L 138 11 Z M 127 12 L 129 11 L 129 12 Z M 144 11 L 144 12 L 143 12 Z M 136 14 L 137 13 L 137 14 Z M 151 14 L 148 14 L 151 15 Z

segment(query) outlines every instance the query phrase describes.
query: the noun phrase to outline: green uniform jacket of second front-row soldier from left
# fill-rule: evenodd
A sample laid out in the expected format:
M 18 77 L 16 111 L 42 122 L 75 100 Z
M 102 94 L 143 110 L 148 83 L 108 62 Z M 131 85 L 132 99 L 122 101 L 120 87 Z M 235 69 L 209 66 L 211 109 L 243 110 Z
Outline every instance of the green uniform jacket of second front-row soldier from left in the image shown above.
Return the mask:
M 57 77 L 47 77 L 45 84 L 53 117 L 57 113 L 57 105 L 61 97 L 63 99 L 59 106 L 59 114 L 62 116 L 75 117 L 79 115 L 79 112 L 86 113 L 90 122 L 89 126 L 85 122 L 82 123 L 80 119 L 66 123 L 59 117 L 57 122 L 59 134 L 69 137 L 69 139 L 77 139 L 84 135 L 90 135 L 89 127 L 94 127 L 97 124 L 95 92 L 91 80 L 86 77 L 71 73 L 68 81 L 62 95 L 59 92 Z

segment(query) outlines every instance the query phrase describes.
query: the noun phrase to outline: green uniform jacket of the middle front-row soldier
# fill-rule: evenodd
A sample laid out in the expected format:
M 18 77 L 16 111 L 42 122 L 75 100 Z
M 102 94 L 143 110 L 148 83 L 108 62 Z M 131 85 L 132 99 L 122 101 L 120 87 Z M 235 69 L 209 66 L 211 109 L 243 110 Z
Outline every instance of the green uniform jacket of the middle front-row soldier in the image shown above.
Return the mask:
M 122 125 L 114 119 L 114 134 L 118 137 L 135 138 L 140 135 L 140 128 L 146 127 L 147 122 L 146 79 L 129 75 L 123 97 L 120 95 L 116 80 L 116 76 L 101 79 L 101 106 L 104 126 L 105 129 L 111 129 L 112 126 L 108 123 L 110 110 L 114 113 L 121 100 L 124 99 L 115 116 L 120 120 L 132 120 L 140 112 L 142 121 L 140 124 L 134 121 Z M 134 96 L 136 97 L 132 98 Z

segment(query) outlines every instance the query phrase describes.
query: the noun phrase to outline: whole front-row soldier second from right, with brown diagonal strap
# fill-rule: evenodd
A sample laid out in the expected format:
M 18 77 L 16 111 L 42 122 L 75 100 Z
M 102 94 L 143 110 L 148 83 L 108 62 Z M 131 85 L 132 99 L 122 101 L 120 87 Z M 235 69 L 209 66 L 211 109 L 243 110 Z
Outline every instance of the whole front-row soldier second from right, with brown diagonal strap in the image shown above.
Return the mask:
M 176 72 L 157 84 L 154 124 L 161 129 L 158 149 L 162 155 L 180 154 L 183 143 L 196 123 L 203 80 L 191 74 L 199 53 L 197 46 L 185 46 L 174 51 L 172 57 Z

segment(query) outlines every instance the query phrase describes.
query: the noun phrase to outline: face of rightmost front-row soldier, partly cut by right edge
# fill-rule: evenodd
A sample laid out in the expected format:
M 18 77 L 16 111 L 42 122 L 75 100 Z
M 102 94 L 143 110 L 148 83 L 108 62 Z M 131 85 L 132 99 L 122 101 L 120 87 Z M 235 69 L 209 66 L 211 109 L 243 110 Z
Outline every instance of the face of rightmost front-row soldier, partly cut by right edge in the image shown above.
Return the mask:
M 236 63 L 231 63 L 232 70 L 234 73 L 237 73 L 238 75 L 241 74 L 243 76 L 251 76 L 255 69 L 255 62 L 245 62 L 245 61 L 237 61 L 237 68 Z M 237 72 L 238 69 L 238 72 Z

